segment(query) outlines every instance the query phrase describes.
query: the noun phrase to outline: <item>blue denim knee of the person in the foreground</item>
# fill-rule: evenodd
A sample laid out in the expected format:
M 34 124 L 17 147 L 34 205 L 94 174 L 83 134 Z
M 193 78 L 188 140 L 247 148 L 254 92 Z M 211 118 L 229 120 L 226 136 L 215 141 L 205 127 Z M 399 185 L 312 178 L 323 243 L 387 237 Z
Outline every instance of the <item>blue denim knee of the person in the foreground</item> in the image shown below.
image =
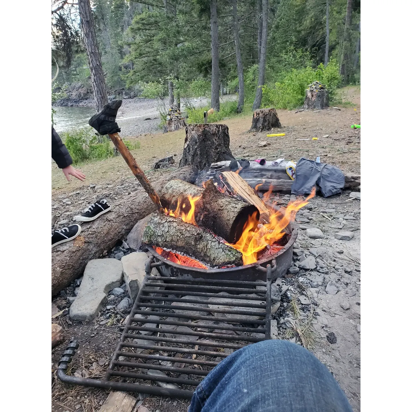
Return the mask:
M 352 412 L 312 353 L 274 339 L 232 353 L 197 386 L 188 412 Z

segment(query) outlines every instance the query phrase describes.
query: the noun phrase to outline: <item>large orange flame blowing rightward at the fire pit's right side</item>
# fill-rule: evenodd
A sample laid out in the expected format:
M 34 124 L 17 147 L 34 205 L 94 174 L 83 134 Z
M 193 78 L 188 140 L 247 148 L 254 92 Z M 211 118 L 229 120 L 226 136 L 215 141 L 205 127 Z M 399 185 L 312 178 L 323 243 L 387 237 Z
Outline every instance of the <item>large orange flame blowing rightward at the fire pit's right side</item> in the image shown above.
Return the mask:
M 265 193 L 264 198 L 269 198 L 269 194 Z M 255 230 L 257 224 L 257 212 L 248 219 L 243 226 L 243 233 L 239 241 L 231 246 L 240 250 L 243 254 L 243 265 L 254 263 L 258 261 L 258 253 L 265 249 L 268 245 L 271 246 L 274 242 L 280 240 L 283 235 L 283 229 L 288 226 L 291 221 L 295 220 L 296 212 L 303 206 L 309 203 L 309 199 L 315 196 L 315 187 L 311 194 L 305 200 L 295 200 L 288 203 L 286 208 L 281 208 L 279 211 L 272 209 L 269 223 L 259 225 Z M 267 196 L 266 196 L 267 195 Z

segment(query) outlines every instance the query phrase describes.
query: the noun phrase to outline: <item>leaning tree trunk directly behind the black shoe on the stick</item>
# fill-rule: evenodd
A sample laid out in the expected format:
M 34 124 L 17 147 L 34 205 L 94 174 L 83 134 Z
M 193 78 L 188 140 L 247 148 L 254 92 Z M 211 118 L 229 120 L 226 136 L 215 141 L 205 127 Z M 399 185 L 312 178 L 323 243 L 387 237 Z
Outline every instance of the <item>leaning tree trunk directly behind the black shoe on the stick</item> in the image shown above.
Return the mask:
M 89 59 L 91 86 L 93 87 L 94 93 L 94 106 L 96 112 L 98 112 L 108 102 L 106 83 L 91 16 L 90 2 L 89 0 L 79 0 L 78 5 L 80 26 L 82 28 L 87 58 Z

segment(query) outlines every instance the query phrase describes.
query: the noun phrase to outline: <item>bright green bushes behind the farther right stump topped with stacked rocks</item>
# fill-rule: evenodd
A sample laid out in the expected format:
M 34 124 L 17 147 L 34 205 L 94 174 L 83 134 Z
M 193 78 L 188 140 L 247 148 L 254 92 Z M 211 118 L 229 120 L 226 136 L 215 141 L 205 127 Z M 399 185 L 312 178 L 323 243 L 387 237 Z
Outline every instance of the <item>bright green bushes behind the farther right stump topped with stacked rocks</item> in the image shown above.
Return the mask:
M 329 91 L 329 100 L 335 98 L 335 91 L 341 82 L 339 65 L 336 60 L 331 60 L 328 66 L 321 63 L 316 69 L 307 66 L 302 69 L 292 69 L 282 73 L 281 81 L 274 87 L 265 85 L 262 87 L 262 106 L 279 109 L 293 109 L 304 102 L 308 84 L 318 80 Z

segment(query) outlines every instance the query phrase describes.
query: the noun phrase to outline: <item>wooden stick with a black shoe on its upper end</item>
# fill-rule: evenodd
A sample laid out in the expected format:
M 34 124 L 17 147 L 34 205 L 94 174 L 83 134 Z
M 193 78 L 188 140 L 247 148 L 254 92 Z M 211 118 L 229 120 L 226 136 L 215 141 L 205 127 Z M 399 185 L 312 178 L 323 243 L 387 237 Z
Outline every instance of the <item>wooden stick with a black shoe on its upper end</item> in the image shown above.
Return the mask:
M 124 144 L 122 138 L 119 136 L 120 128 L 116 123 L 117 110 L 122 105 L 121 100 L 112 100 L 109 103 L 105 104 L 103 108 L 96 115 L 92 116 L 89 120 L 89 125 L 98 131 L 99 134 L 107 134 L 112 140 L 113 144 L 119 150 L 119 153 L 122 155 L 123 159 L 127 163 L 127 166 L 130 167 L 133 175 L 136 176 L 137 180 L 142 185 L 143 189 L 149 195 L 152 202 L 157 207 L 160 213 L 163 213 L 163 206 L 160 203 L 159 195 L 156 193 L 154 187 L 147 179 L 145 173 L 137 164 L 135 158 L 130 153 L 130 150 Z M 96 133 L 96 134 L 98 134 Z

